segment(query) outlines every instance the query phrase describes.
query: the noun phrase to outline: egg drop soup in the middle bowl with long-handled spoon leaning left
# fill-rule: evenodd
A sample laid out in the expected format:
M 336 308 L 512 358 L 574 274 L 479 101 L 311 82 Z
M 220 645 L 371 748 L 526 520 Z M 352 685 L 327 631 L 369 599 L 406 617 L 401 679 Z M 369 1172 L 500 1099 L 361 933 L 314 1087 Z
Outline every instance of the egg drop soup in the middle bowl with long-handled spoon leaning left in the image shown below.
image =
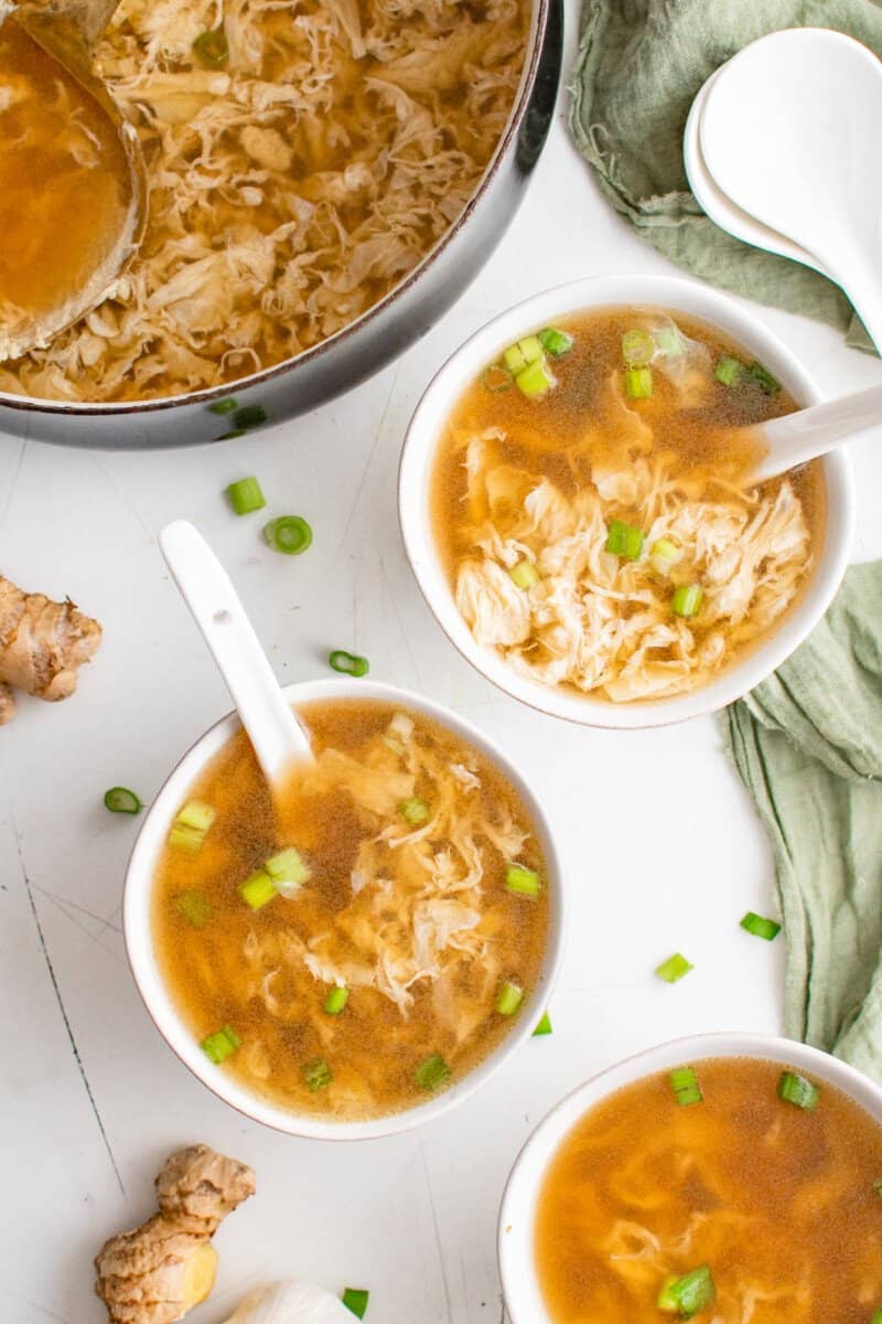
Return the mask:
M 292 1111 L 360 1120 L 424 1102 L 427 1059 L 450 1072 L 443 1088 L 510 1029 L 496 1000 L 506 981 L 525 1000 L 536 988 L 549 899 L 509 891 L 506 867 L 543 879 L 543 862 L 512 785 L 428 718 L 350 700 L 300 715 L 317 764 L 291 784 L 283 824 L 243 733 L 192 788 L 217 817 L 198 854 L 163 854 L 155 945 L 194 1038 L 230 1026 L 241 1039 L 222 1070 Z M 402 806 L 419 817 L 415 801 L 428 818 L 414 826 Z M 312 876 L 251 910 L 242 883 L 291 845 Z M 349 990 L 337 1016 L 335 986 Z M 316 1063 L 332 1079 L 309 1088 Z

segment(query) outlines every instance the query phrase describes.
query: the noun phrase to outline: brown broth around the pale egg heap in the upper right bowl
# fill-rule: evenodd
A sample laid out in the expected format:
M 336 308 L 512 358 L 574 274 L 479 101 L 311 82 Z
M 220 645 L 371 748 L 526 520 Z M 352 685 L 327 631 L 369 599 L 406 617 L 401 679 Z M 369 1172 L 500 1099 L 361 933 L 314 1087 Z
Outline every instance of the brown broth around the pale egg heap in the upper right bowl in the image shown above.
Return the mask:
M 620 397 L 614 396 L 610 385 L 620 379 L 623 369 L 621 336 L 635 326 L 670 323 L 672 318 L 701 356 L 701 367 L 693 376 L 694 400 L 689 401 L 690 389 L 680 393 L 664 369 L 653 367 L 651 399 L 627 401 L 627 405 L 652 429 L 651 455 L 669 465 L 669 471 L 688 485 L 692 498 L 711 502 L 727 491 L 750 489 L 751 469 L 762 454 L 762 444 L 751 436 L 751 426 L 792 413 L 797 405 L 784 389 L 767 395 L 747 376 L 737 387 L 714 380 L 714 365 L 722 355 L 748 364 L 752 356 L 747 351 L 715 327 L 660 308 L 616 307 L 557 319 L 554 324 L 573 335 L 574 347 L 559 360 L 549 359 L 555 388 L 540 399 L 528 399 L 516 388 L 489 391 L 481 373 L 455 402 L 442 434 L 431 479 L 431 519 L 454 592 L 459 568 L 480 555 L 467 496 L 464 454 L 469 441 L 487 429 L 501 429 L 504 437 L 493 442 L 501 461 L 529 471 L 537 482 L 550 479 L 569 500 L 592 486 L 596 465 L 627 473 L 632 466 L 633 432 L 621 412 Z M 824 542 L 826 504 L 821 463 L 815 461 L 787 477 L 801 506 L 811 548 L 817 555 Z M 782 482 L 766 483 L 758 494 L 775 496 Z M 610 514 L 637 526 L 641 523 L 633 510 L 611 508 Z M 648 545 L 644 563 L 647 552 Z M 672 584 L 678 576 L 688 580 L 688 569 L 684 567 L 682 575 L 681 568 L 674 569 Z M 808 576 L 803 576 L 793 604 L 807 580 Z M 701 645 L 710 626 L 705 626 L 700 614 L 690 628 Z M 713 628 L 718 629 L 718 622 Z M 748 613 L 746 622 L 726 641 L 725 665 L 733 665 L 762 642 L 758 633 L 762 636 L 762 630 L 751 629 Z M 674 655 L 656 649 L 653 661 Z M 561 683 L 578 692 L 567 682 Z M 603 687 L 591 690 L 591 696 L 610 698 Z

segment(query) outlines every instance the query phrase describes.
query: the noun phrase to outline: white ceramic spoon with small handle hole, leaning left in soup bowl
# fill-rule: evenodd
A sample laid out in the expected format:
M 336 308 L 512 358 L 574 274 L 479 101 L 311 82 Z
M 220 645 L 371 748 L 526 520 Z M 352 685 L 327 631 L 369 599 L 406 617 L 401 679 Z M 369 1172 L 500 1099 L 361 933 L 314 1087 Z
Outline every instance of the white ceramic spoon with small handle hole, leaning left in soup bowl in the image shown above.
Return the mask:
M 230 577 L 185 519 L 159 535 L 165 563 L 226 682 L 274 796 L 298 763 L 312 761 L 309 739 L 284 698 Z

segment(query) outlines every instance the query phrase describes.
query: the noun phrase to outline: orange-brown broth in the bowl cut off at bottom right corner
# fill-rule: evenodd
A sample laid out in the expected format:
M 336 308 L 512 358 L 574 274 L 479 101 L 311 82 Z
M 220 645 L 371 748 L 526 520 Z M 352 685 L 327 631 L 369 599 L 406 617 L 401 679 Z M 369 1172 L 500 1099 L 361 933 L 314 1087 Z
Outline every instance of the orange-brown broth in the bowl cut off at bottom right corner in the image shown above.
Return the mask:
M 664 1278 L 702 1263 L 717 1300 L 697 1320 L 869 1324 L 882 1305 L 882 1128 L 829 1084 L 815 1112 L 782 1102 L 774 1062 L 694 1070 L 703 1103 L 680 1107 L 668 1074 L 649 1076 L 557 1151 L 536 1222 L 554 1324 L 659 1324 Z

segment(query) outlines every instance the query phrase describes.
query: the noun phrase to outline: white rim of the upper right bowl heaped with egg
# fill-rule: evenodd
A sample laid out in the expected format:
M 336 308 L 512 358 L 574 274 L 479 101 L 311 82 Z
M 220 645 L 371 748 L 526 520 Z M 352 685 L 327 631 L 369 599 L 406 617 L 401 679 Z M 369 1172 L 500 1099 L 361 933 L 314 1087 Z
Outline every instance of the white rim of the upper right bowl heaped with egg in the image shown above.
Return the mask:
M 495 649 L 475 642 L 456 609 L 431 530 L 431 475 L 438 438 L 476 372 L 513 338 L 579 311 L 615 307 L 661 307 L 685 312 L 717 327 L 768 363 L 801 404 L 824 399 L 803 361 L 752 311 L 729 294 L 682 275 L 612 274 L 569 281 L 516 303 L 485 322 L 442 364 L 411 414 L 398 467 L 398 522 L 405 551 L 421 593 L 456 651 L 485 679 L 538 712 L 578 726 L 645 730 L 672 726 L 717 712 L 775 671 L 821 620 L 849 563 L 854 531 L 854 493 L 846 450 L 822 457 L 826 490 L 824 543 L 816 567 L 796 604 L 755 647 L 707 685 L 668 699 L 615 704 L 570 694 L 517 675 Z

